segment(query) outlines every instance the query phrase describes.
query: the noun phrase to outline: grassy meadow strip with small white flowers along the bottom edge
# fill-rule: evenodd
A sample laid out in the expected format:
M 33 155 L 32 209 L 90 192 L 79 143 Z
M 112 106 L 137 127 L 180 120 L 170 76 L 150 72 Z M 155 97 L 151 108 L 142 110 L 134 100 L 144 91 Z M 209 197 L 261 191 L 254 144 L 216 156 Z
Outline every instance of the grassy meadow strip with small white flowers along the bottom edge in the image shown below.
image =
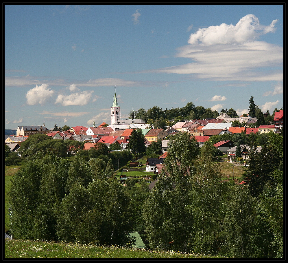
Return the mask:
M 183 259 L 210 259 L 224 258 L 195 253 L 181 253 L 163 250 L 148 250 L 125 248 L 119 246 L 102 246 L 92 244 L 43 242 L 28 240 L 5 239 L 4 258 L 183 258 Z

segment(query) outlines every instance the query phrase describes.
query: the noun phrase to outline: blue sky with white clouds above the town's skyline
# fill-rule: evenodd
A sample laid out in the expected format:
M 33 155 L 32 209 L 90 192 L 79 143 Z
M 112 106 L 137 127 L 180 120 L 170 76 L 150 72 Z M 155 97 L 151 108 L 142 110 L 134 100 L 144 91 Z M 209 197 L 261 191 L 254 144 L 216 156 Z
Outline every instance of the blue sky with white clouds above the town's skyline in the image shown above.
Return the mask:
M 184 107 L 283 108 L 276 5 L 5 5 L 5 129 Z

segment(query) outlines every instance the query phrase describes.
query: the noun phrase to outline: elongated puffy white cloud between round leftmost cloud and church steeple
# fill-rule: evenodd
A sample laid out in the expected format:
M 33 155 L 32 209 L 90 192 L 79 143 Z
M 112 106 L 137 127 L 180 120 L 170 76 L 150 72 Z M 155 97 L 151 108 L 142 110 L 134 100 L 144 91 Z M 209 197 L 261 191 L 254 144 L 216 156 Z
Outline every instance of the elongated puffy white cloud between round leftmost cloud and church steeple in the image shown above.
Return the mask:
M 72 93 L 70 95 L 60 94 L 56 98 L 55 104 L 60 103 L 62 106 L 80 105 L 84 106 L 91 100 L 92 93 L 94 91 L 84 90 L 80 93 Z

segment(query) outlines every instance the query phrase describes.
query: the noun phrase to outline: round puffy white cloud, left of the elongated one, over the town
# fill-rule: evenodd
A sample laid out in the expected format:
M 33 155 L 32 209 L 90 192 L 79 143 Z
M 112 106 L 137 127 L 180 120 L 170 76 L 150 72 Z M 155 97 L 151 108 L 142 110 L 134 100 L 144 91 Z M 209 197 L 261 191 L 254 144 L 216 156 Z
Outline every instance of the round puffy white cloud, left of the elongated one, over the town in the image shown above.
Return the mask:
M 48 84 L 36 85 L 35 88 L 29 90 L 26 94 L 27 104 L 36 105 L 39 103 L 43 105 L 53 94 L 54 90 L 50 90 Z

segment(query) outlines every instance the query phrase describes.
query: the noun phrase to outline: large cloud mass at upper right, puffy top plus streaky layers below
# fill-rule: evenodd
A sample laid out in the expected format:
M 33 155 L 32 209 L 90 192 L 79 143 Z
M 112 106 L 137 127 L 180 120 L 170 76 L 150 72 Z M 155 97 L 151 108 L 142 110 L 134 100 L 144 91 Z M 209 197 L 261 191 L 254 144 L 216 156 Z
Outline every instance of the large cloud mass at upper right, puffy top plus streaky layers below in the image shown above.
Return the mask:
M 282 81 L 283 47 L 255 40 L 274 32 L 276 21 L 264 26 L 247 15 L 236 26 L 199 29 L 190 35 L 190 45 L 178 48 L 176 55 L 193 62 L 141 72 L 192 74 L 192 78 L 216 81 Z

